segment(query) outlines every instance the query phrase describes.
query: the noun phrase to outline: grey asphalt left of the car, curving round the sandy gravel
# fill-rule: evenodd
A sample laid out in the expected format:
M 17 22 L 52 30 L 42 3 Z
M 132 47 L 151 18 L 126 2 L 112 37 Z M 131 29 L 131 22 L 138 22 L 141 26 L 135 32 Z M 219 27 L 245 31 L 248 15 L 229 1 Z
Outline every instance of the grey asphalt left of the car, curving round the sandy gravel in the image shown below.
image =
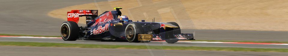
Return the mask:
M 0 33 L 59 35 L 59 28 L 65 20 L 50 17 L 47 13 L 92 2 L 94 0 L 1 0 Z

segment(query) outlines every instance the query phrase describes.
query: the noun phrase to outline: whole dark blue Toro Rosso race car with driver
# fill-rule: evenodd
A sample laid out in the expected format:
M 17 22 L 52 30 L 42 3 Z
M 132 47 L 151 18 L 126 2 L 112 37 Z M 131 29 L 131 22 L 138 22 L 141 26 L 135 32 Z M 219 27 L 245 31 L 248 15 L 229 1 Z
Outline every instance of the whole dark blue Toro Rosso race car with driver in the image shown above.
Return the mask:
M 176 22 L 133 22 L 127 16 L 121 16 L 122 7 L 116 11 L 105 11 L 98 16 L 98 10 L 71 10 L 67 12 L 67 21 L 61 25 L 61 37 L 65 41 L 98 40 L 128 42 L 150 42 L 165 40 L 176 43 L 179 40 L 193 39 L 193 34 L 181 33 Z M 86 17 L 86 26 L 78 26 L 79 17 Z M 118 18 L 120 16 L 120 18 Z M 155 19 L 154 19 L 155 20 Z

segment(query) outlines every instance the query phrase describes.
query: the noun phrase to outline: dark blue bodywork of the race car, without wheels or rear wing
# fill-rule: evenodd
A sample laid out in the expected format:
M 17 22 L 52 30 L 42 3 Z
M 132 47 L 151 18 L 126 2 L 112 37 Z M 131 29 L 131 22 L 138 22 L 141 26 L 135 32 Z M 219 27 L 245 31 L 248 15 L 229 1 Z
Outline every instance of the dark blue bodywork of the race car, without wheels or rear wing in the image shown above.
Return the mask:
M 107 22 L 95 23 L 97 19 L 100 19 L 102 16 L 107 16 L 107 14 L 113 15 L 113 19 Z M 125 28 L 130 23 L 138 23 L 143 27 L 144 34 L 153 34 L 154 41 L 156 40 L 167 40 L 165 38 L 166 30 L 161 26 L 161 24 L 167 24 L 162 22 L 133 22 L 129 20 L 128 22 L 123 22 L 123 20 L 119 20 L 118 16 L 120 16 L 119 11 L 106 11 L 93 19 L 91 22 L 87 23 L 85 28 L 80 28 L 82 30 L 82 34 L 80 34 L 78 39 L 83 40 L 126 40 L 125 37 Z M 105 19 L 106 20 L 106 19 Z M 121 26 L 117 26 L 117 24 L 121 23 Z M 87 29 L 88 28 L 88 29 Z M 178 40 L 187 40 L 193 39 L 193 34 L 173 34 L 175 38 Z M 171 39 L 171 38 L 170 38 Z

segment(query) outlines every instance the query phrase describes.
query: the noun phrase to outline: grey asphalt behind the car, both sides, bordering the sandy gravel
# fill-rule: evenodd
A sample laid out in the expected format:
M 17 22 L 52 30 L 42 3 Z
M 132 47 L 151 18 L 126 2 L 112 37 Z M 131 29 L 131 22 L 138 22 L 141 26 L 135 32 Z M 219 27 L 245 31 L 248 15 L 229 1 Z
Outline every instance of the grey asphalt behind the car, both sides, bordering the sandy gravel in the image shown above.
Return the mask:
M 49 11 L 94 0 L 1 0 L 0 34 L 58 36 L 64 20 Z M 59 12 L 66 13 L 66 11 Z M 182 33 L 192 30 L 182 29 Z M 288 31 L 196 30 L 196 40 L 288 41 Z

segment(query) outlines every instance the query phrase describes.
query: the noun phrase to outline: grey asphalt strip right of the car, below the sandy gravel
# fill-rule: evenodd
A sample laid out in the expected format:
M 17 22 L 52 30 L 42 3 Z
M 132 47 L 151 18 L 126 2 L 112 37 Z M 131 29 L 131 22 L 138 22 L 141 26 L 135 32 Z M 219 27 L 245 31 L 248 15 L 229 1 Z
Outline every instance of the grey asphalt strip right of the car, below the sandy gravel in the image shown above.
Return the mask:
M 181 31 L 182 33 L 188 33 L 189 29 L 181 29 Z M 196 30 L 195 39 L 239 40 L 239 41 L 288 41 L 288 31 Z

